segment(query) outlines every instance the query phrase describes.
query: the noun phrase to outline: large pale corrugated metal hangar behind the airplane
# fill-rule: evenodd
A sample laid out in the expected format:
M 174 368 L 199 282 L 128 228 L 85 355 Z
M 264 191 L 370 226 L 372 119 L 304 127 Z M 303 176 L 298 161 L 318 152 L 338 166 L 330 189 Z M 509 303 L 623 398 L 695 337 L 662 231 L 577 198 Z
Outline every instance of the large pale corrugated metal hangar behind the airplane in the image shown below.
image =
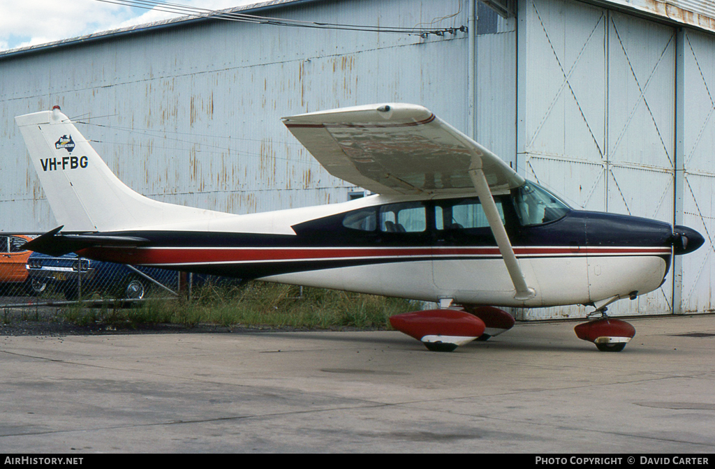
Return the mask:
M 0 54 L 0 227 L 54 228 L 19 114 L 59 104 L 137 192 L 247 213 L 358 190 L 280 117 L 410 102 L 575 207 L 704 235 L 659 290 L 613 314 L 715 310 L 711 1 L 276 0 L 228 12 L 382 30 L 184 17 Z

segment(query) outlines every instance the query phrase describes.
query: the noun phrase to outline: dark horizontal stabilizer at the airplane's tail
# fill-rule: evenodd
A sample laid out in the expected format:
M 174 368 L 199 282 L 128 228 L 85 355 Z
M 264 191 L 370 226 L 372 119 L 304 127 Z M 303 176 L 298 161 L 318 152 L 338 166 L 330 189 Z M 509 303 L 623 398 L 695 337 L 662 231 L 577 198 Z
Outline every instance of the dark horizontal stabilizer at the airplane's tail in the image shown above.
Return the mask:
M 26 250 L 49 256 L 61 256 L 77 252 L 87 247 L 138 247 L 147 245 L 149 240 L 132 236 L 103 236 L 101 234 L 59 234 L 63 227 L 55 229 L 28 241 Z

